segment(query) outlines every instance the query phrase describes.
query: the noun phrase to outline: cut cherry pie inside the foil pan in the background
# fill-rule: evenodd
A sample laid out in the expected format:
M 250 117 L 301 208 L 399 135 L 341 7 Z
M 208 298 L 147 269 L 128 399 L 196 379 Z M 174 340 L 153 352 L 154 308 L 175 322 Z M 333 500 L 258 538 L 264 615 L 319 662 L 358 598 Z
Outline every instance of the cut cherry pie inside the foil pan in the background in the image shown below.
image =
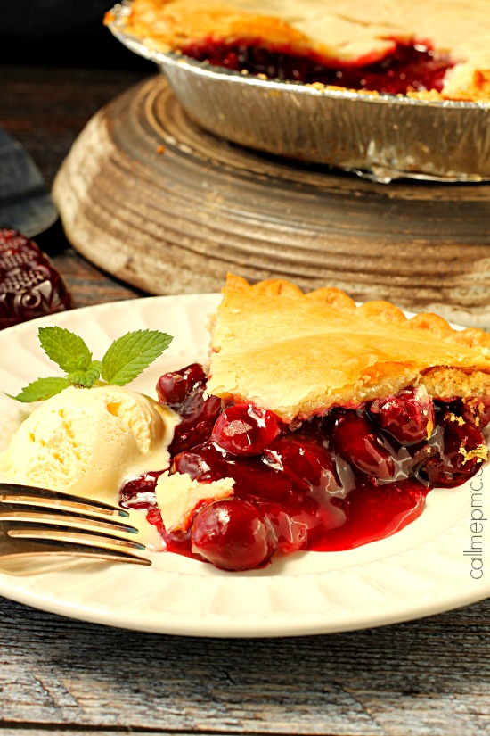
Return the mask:
M 265 78 L 490 99 L 486 0 L 134 0 L 127 31 L 152 48 Z

